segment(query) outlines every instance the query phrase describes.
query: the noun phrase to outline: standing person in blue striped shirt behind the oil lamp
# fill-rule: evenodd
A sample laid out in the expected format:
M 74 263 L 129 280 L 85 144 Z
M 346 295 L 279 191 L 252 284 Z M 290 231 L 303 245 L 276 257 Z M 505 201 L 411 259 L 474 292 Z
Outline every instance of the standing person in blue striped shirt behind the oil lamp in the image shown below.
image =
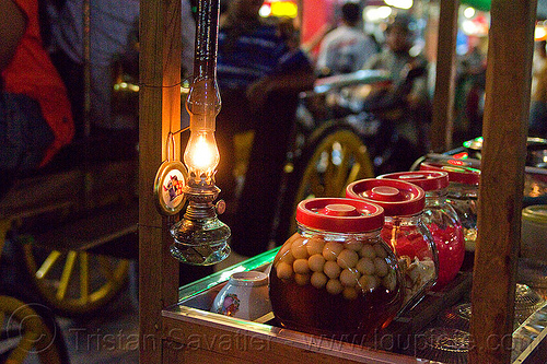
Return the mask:
M 260 19 L 261 4 L 263 0 L 230 1 L 219 30 L 222 108 L 216 132 L 221 154 L 217 185 L 221 197 L 236 206 L 228 223 L 232 247 L 245 256 L 265 251 L 269 243 L 298 93 L 314 81 L 301 48 L 291 45 L 277 24 Z M 237 199 L 233 139 L 247 130 L 255 133 Z

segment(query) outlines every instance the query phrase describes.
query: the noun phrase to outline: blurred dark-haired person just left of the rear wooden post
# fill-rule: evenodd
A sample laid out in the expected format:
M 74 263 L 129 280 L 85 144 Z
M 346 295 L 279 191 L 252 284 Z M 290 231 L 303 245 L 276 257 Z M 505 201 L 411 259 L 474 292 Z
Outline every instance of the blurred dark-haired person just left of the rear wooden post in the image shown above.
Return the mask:
M 392 77 L 387 89 L 376 90 L 369 103 L 400 103 L 409 113 L 396 120 L 398 136 L 408 143 L 411 157 L 418 157 L 429 150 L 428 128 L 430 121 L 430 99 L 428 91 L 428 61 L 421 56 L 409 54 L 412 47 L 411 19 L 398 15 L 385 30 L 384 50 L 372 56 L 364 69 L 385 70 Z M 410 78 L 411 75 L 411 78 Z M 374 106 L 374 105 L 371 105 Z

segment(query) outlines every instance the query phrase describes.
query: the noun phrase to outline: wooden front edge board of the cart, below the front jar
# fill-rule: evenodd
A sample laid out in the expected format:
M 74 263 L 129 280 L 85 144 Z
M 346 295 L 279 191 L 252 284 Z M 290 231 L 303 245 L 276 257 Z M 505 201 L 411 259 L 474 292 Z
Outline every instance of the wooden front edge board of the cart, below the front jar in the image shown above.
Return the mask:
M 189 309 L 191 312 L 191 308 Z M 165 312 L 164 312 L 165 313 Z M 191 313 L 163 317 L 163 339 L 171 342 L 165 363 L 315 363 L 315 364 L 416 364 L 412 356 L 369 349 L 360 344 L 331 340 L 267 325 L 211 314 L 197 318 Z M 224 322 L 221 322 L 224 319 Z M 359 339 L 357 339 L 359 340 Z M 165 345 L 163 347 L 165 349 Z

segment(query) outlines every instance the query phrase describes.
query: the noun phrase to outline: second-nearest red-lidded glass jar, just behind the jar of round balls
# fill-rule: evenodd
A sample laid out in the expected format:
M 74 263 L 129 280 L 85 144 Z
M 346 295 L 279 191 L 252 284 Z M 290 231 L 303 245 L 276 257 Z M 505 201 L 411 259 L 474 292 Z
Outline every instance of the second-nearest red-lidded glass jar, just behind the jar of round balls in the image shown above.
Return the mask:
M 403 310 L 414 307 L 439 274 L 437 247 L 423 222 L 426 192 L 404 180 L 369 178 L 349 184 L 346 196 L 384 208 L 381 236 L 395 253 L 405 278 Z

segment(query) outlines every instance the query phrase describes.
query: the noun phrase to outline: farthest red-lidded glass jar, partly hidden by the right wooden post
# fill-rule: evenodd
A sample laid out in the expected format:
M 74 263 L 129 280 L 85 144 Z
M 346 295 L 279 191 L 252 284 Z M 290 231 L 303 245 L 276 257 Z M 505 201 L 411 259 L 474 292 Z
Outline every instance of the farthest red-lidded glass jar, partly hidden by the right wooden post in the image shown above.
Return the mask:
M 451 161 L 452 163 L 465 163 Z M 464 231 L 465 249 L 475 251 L 477 239 L 477 201 L 480 171 L 465 165 L 433 162 L 420 164 L 420 171 L 442 171 L 449 174 L 446 201 L 456 211 Z

